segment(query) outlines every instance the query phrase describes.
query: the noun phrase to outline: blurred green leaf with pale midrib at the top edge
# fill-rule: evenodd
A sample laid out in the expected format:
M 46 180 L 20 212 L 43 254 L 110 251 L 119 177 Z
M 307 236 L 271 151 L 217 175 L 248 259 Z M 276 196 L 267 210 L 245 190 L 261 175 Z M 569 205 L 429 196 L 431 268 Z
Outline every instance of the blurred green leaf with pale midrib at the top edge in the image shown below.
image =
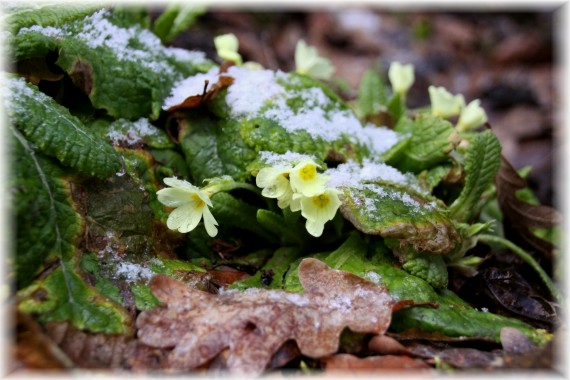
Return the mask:
M 163 42 L 169 42 L 192 26 L 205 12 L 205 6 L 169 4 L 156 19 L 152 31 Z

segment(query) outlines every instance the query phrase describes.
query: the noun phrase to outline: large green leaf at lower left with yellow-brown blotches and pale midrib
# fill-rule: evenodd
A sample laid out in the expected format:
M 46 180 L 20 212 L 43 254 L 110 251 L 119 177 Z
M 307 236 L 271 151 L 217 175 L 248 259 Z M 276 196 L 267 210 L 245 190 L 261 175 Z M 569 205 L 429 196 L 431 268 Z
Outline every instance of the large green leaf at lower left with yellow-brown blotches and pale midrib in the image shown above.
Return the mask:
M 17 156 L 13 157 L 22 169 L 14 180 L 19 226 L 16 274 L 19 287 L 23 287 L 18 292 L 19 309 L 38 314 L 44 322 L 70 321 L 77 328 L 93 332 L 129 332 L 130 317 L 125 310 L 85 283 L 80 275 L 75 244 L 83 230 L 82 222 L 71 200 L 69 183 L 61 179 L 63 172 L 34 154 L 24 137 L 13 132 L 17 139 L 13 152 Z M 34 280 L 47 256 L 58 262 L 46 277 Z

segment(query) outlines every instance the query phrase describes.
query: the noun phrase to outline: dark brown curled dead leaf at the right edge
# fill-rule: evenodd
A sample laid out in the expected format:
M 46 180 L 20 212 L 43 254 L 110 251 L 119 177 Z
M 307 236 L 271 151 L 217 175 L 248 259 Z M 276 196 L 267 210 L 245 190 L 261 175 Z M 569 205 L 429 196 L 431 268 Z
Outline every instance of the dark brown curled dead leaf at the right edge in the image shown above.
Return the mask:
M 537 237 L 530 228 L 550 228 L 562 222 L 562 216 L 552 207 L 532 205 L 519 199 L 516 192 L 527 187 L 527 183 L 511 164 L 501 156 L 501 166 L 496 179 L 497 199 L 505 222 L 522 240 L 545 257 L 552 258 L 553 245 Z

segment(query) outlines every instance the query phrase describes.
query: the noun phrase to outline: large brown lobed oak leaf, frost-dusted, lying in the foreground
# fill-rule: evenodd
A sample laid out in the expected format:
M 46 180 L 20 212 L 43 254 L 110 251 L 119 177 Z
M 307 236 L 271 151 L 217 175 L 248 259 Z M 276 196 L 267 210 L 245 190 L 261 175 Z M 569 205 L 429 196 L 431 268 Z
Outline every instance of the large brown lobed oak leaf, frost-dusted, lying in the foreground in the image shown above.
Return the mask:
M 303 355 L 321 358 L 338 350 L 345 327 L 383 334 L 390 325 L 394 301 L 384 287 L 311 258 L 299 265 L 299 280 L 304 293 L 248 289 L 213 295 L 156 276 L 152 292 L 166 305 L 139 315 L 139 340 L 173 347 L 168 369 L 196 368 L 228 348 L 230 372 L 257 375 L 287 340 L 295 340 Z

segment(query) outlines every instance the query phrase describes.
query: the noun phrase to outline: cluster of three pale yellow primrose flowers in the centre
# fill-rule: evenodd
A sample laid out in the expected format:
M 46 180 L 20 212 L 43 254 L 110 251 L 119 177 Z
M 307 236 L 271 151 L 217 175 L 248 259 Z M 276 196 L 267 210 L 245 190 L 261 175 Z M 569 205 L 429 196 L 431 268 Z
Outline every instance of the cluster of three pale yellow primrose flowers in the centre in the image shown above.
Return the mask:
M 325 223 L 334 218 L 340 206 L 337 190 L 326 187 L 329 177 L 318 173 L 319 167 L 303 159 L 295 166 L 263 168 L 255 179 L 262 188 L 261 195 L 277 199 L 280 208 L 301 211 L 307 219 L 307 231 L 315 237 L 322 235 Z

